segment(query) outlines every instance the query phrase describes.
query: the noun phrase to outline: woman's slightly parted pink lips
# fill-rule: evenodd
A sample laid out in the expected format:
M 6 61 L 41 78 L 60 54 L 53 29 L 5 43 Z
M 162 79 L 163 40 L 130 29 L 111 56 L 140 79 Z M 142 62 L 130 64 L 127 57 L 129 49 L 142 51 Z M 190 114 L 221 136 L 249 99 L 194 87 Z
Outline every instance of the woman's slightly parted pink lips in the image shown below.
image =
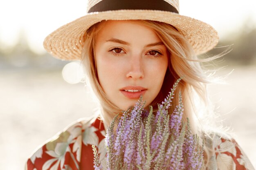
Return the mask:
M 139 90 L 138 92 L 129 92 L 125 90 Z M 146 88 L 141 86 L 126 86 L 120 89 L 121 93 L 130 99 L 138 99 L 140 95 L 144 95 L 147 91 Z

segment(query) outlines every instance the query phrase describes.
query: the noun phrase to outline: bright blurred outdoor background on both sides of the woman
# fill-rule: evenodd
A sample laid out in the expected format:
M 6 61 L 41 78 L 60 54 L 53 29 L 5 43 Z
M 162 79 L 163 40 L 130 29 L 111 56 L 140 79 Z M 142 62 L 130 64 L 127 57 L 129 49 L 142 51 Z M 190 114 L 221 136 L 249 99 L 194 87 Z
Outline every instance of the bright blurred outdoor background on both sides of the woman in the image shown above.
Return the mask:
M 80 82 L 79 62 L 51 57 L 43 39 L 86 13 L 86 0 L 9 0 L 0 6 L 0 169 L 23 170 L 31 153 L 97 106 Z M 180 0 L 180 14 L 211 24 L 217 48 L 233 49 L 211 69 L 226 85 L 209 86 L 211 97 L 238 144 L 256 167 L 256 1 Z M 224 67 L 224 68 L 223 68 Z

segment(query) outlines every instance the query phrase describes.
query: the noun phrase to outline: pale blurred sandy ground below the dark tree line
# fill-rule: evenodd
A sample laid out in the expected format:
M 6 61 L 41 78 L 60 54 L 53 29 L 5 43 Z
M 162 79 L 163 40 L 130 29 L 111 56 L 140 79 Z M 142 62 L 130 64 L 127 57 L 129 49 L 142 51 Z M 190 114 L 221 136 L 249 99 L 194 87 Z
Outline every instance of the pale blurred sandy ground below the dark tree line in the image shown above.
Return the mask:
M 211 94 L 256 167 L 256 66 L 236 68 L 227 81 Z M 23 170 L 38 146 L 95 106 L 87 87 L 66 83 L 61 72 L 0 71 L 0 170 Z

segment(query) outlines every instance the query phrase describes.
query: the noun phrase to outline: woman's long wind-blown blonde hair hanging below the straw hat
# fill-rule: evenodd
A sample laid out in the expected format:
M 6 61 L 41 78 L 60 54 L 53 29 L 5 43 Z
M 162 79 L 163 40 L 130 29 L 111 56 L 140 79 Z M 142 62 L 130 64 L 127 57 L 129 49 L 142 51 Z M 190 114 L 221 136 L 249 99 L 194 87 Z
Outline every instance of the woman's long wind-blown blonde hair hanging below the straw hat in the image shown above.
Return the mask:
M 148 26 L 149 28 L 153 29 L 153 31 L 158 35 L 168 49 L 170 55 L 168 58 L 168 69 L 164 77 L 162 88 L 150 105 L 152 105 L 153 108 L 157 108 L 157 103 L 162 102 L 162 100 L 168 95 L 168 92 L 171 91 L 173 83 L 176 81 L 176 79 L 184 76 L 175 93 L 176 96 L 179 91 L 182 93 L 184 104 L 183 119 L 186 121 L 186 118 L 189 118 L 191 130 L 194 134 L 202 134 L 202 132 L 207 133 L 207 129 L 205 129 L 206 126 L 204 126 L 200 120 L 203 119 L 202 115 L 208 120 L 209 115 L 213 115 L 213 108 L 211 107 L 211 103 L 208 99 L 206 84 L 214 82 L 214 78 L 206 74 L 203 69 L 202 62 L 211 61 L 220 56 L 199 59 L 198 56 L 195 55 L 188 40 L 186 40 L 184 36 L 170 24 L 150 20 L 130 21 L 143 24 L 144 26 Z M 97 33 L 101 28 L 103 28 L 105 23 L 106 21 L 101 21 L 94 24 L 85 33 L 82 62 L 85 66 L 85 71 L 88 75 L 92 90 L 99 99 L 103 109 L 101 117 L 104 123 L 109 125 L 112 118 L 117 113 L 121 113 L 121 110 L 108 99 L 99 84 L 97 76 L 94 47 Z M 173 101 L 173 107 L 170 108 L 170 113 L 172 113 L 173 108 L 178 104 L 177 98 L 178 97 L 174 98 L 175 100 Z M 198 107 L 197 104 L 200 107 Z M 202 106 L 205 107 L 202 109 Z M 207 126 L 209 126 L 208 123 L 209 122 L 206 123 Z M 201 139 L 202 138 L 203 136 L 201 136 Z M 207 161 L 210 156 L 210 150 L 205 151 L 207 154 Z

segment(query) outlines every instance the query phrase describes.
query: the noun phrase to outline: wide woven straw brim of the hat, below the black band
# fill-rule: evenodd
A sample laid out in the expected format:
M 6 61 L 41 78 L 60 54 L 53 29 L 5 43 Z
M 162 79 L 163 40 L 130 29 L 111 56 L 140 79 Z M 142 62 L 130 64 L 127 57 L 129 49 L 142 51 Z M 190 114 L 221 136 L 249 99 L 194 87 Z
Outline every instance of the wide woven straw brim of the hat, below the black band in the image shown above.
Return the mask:
M 197 55 L 218 43 L 217 31 L 209 24 L 184 15 L 155 10 L 117 10 L 88 13 L 49 34 L 43 46 L 62 60 L 81 60 L 85 31 L 102 20 L 153 20 L 173 25 L 191 44 Z

